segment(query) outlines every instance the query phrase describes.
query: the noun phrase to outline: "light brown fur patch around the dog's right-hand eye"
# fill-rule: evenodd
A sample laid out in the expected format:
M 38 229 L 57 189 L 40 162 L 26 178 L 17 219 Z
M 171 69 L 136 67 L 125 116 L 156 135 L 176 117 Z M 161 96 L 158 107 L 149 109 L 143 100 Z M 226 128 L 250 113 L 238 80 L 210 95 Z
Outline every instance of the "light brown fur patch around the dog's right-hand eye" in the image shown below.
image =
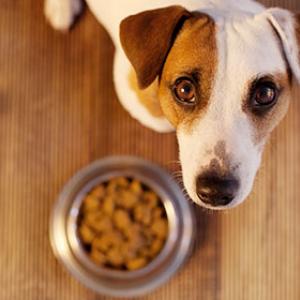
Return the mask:
M 253 81 L 250 81 L 243 105 L 243 111 L 249 116 L 255 128 L 253 140 L 256 145 L 259 145 L 261 142 L 263 142 L 276 127 L 276 125 L 278 125 L 278 123 L 283 119 L 289 107 L 291 98 L 291 86 L 286 73 L 277 73 L 269 77 L 272 78 L 272 80 L 281 89 L 277 103 L 264 113 L 255 114 L 251 109 L 249 99 L 249 94 L 253 83 Z

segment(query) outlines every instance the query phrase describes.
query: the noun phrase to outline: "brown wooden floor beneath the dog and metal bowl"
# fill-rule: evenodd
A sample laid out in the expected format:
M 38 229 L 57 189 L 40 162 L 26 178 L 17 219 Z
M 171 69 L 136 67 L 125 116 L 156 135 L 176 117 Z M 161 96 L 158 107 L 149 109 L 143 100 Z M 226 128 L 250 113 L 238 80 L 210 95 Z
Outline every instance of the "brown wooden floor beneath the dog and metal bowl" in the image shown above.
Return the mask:
M 264 2 L 300 10 L 298 0 Z M 48 219 L 63 184 L 97 158 L 131 154 L 177 169 L 175 135 L 132 120 L 112 85 L 114 47 L 86 10 L 54 32 L 42 2 L 0 2 L 0 299 L 97 300 L 54 258 Z M 143 299 L 300 299 L 300 93 L 273 134 L 250 199 L 197 210 L 197 245 Z

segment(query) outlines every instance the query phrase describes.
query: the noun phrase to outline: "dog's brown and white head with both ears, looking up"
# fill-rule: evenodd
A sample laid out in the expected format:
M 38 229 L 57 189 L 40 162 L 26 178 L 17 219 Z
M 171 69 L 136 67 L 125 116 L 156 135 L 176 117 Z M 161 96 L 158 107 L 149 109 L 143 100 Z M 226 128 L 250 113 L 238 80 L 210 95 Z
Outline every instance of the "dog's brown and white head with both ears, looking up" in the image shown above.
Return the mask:
M 120 35 L 140 88 L 158 79 L 192 200 L 213 209 L 241 203 L 300 79 L 300 17 L 267 9 L 212 18 L 172 6 L 128 17 Z

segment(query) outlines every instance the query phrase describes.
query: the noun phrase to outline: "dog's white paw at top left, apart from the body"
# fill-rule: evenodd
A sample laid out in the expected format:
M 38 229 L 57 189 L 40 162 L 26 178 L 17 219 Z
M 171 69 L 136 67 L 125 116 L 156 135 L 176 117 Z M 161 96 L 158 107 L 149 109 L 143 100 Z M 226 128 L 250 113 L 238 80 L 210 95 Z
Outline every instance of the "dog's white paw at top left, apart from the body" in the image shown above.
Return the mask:
M 81 0 L 45 0 L 46 18 L 57 30 L 68 30 L 81 9 Z

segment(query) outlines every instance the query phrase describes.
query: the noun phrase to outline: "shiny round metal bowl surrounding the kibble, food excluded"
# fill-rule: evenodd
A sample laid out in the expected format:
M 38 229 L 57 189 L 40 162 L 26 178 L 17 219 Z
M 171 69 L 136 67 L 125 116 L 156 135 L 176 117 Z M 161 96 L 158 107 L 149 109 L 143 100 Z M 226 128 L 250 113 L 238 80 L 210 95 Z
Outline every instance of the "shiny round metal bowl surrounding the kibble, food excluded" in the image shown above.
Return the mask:
M 153 189 L 163 202 L 169 223 L 162 251 L 136 271 L 97 266 L 87 256 L 77 235 L 84 196 L 99 183 L 118 176 L 136 178 Z M 194 215 L 179 186 L 167 172 L 136 157 L 108 157 L 79 171 L 63 188 L 50 219 L 50 241 L 56 257 L 84 285 L 115 297 L 143 295 L 165 283 L 189 257 L 193 237 Z

